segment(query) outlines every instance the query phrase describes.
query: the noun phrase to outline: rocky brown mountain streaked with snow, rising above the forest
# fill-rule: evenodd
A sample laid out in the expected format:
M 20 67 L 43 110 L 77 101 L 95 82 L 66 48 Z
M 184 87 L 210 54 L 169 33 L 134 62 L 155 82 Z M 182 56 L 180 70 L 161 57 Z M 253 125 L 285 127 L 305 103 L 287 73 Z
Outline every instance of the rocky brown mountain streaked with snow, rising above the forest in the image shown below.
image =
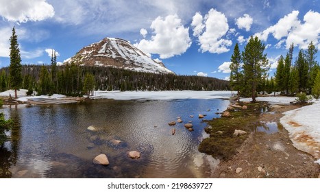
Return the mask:
M 151 59 L 143 51 L 120 38 L 103 38 L 82 48 L 72 58 L 64 61 L 81 65 L 118 67 L 149 73 L 173 73 L 162 62 Z

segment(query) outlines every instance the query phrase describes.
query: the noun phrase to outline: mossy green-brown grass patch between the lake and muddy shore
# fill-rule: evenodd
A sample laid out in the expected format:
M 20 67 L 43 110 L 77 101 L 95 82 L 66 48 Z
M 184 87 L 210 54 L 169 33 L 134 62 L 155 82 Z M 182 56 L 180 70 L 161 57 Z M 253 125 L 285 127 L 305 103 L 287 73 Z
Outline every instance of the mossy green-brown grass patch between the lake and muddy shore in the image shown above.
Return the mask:
M 265 102 L 257 102 L 246 106 L 246 110 L 228 110 L 230 117 L 207 121 L 210 126 L 205 128 L 205 131 L 210 137 L 201 141 L 199 151 L 223 160 L 232 158 L 249 136 L 252 122 L 258 121 L 262 109 L 267 105 Z M 234 136 L 234 130 L 243 130 L 248 134 Z

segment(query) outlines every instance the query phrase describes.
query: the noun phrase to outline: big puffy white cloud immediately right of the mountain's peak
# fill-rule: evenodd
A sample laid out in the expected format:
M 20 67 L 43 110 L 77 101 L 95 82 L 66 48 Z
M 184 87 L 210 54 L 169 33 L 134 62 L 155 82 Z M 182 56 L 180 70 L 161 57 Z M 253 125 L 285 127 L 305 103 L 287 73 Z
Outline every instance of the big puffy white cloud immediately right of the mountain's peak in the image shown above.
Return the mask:
M 181 55 L 191 45 L 188 28 L 182 25 L 177 14 L 162 18 L 158 16 L 150 26 L 154 35 L 151 40 L 140 40 L 134 44 L 146 53 L 156 53 L 161 59 Z

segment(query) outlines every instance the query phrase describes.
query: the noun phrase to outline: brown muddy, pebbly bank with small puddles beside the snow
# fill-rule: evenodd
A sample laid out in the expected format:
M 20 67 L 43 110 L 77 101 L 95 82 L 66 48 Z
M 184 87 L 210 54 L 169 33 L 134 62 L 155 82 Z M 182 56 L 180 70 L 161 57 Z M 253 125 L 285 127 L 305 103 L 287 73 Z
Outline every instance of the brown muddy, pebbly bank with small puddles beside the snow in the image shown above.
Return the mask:
M 280 124 L 282 112 L 293 110 L 299 106 L 281 106 L 280 108 L 267 108 L 267 112 L 251 114 L 255 121 L 240 129 L 248 131 L 245 140 L 239 146 L 234 145 L 236 152 L 232 157 L 223 160 L 212 176 L 214 178 L 318 178 L 320 165 L 314 163 L 315 158 L 310 154 L 301 152 L 293 146 L 288 132 Z M 251 118 L 249 117 L 249 118 Z M 232 121 L 225 118 L 225 122 Z M 223 119 L 223 118 L 221 118 Z M 211 123 L 214 126 L 214 119 Z M 254 126 L 259 123 L 271 123 L 276 129 Z M 226 123 L 229 125 L 229 123 Z M 256 127 L 256 130 L 253 128 Z M 269 130 L 268 130 L 269 129 Z M 214 132 L 216 134 L 217 132 Z

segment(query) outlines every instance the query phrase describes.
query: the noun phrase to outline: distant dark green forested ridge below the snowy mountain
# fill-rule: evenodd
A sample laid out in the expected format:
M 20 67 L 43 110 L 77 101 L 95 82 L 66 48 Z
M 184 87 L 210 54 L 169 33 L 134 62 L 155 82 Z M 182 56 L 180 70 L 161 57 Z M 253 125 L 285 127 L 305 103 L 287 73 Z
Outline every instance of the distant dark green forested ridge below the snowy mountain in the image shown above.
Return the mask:
M 59 93 L 71 96 L 84 95 L 86 74 L 94 77 L 94 90 L 101 91 L 225 91 L 229 82 L 213 77 L 156 74 L 128 71 L 114 67 L 79 66 L 77 64 L 23 65 L 21 88 L 38 95 Z M 9 68 L 0 69 L 0 91 L 10 88 Z

